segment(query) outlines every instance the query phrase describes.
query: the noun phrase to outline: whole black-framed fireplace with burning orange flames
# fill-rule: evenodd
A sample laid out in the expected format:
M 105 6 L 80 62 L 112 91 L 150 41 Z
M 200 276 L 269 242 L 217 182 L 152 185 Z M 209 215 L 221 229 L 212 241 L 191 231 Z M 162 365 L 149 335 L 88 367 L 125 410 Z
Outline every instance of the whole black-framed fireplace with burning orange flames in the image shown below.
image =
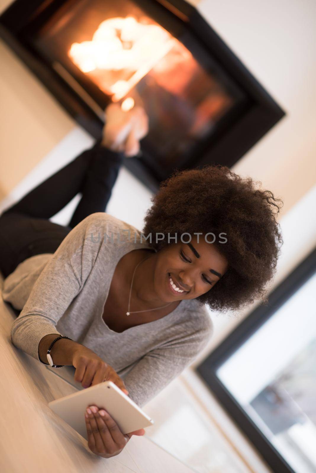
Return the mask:
M 284 116 L 183 0 L 17 0 L 0 35 L 95 138 L 111 101 L 144 106 L 125 166 L 153 192 L 176 168 L 232 166 Z

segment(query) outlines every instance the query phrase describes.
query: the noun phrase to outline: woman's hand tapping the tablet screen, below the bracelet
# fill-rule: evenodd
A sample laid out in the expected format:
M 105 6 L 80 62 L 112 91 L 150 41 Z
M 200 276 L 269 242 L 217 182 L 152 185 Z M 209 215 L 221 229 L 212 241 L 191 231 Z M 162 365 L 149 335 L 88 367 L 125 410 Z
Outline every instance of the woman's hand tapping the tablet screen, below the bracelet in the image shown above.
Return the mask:
M 81 383 L 82 387 L 94 386 L 103 381 L 113 381 L 125 394 L 128 394 L 123 380 L 114 368 L 89 348 L 79 345 L 73 352 L 72 365 L 76 368 L 74 380 Z

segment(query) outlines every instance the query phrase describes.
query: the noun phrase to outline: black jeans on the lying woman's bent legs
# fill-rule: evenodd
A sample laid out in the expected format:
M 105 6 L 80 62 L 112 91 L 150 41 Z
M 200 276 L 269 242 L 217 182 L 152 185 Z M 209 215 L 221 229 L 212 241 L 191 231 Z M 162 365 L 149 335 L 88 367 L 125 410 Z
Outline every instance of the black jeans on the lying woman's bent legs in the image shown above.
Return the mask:
M 27 193 L 0 216 L 0 271 L 4 278 L 26 258 L 54 253 L 65 236 L 91 213 L 104 212 L 124 154 L 100 140 Z M 49 219 L 82 193 L 68 226 Z

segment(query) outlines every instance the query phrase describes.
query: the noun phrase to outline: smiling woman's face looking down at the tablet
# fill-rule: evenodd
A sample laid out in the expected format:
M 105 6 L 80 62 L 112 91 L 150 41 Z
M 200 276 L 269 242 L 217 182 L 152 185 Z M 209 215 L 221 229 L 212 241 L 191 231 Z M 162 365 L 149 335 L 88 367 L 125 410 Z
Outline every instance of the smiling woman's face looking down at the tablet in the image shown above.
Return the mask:
M 197 240 L 198 236 L 193 235 L 190 243 L 180 240 L 157 253 L 155 289 L 162 300 L 197 298 L 211 290 L 228 270 L 227 259 L 214 245 L 207 243 L 203 235 L 199 236 L 199 243 Z M 174 285 L 183 292 L 174 289 Z

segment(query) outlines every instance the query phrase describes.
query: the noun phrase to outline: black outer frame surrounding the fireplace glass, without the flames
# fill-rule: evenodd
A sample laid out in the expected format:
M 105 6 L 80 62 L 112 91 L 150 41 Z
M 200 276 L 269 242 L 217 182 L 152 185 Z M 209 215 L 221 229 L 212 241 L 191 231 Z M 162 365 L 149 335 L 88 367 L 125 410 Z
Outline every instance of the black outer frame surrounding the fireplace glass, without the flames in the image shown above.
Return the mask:
M 26 66 L 40 79 L 74 120 L 94 138 L 101 136 L 103 121 L 84 95 L 76 92 L 69 83 L 47 62 L 34 53 L 25 41 L 23 32 L 30 22 L 43 15 L 43 10 L 61 6 L 66 0 L 16 0 L 0 16 L 0 37 L 9 45 Z M 200 13 L 184 0 L 151 0 L 184 22 L 204 49 L 219 63 L 225 72 L 243 89 L 247 108 L 230 128 L 219 131 L 199 158 L 185 168 L 205 164 L 233 166 L 271 128 L 286 115 L 270 94 L 246 69 Z M 160 180 L 142 158 L 125 159 L 124 165 L 152 192 L 156 193 Z M 176 168 L 176 167 L 175 167 Z M 180 167 L 179 167 L 180 169 Z

